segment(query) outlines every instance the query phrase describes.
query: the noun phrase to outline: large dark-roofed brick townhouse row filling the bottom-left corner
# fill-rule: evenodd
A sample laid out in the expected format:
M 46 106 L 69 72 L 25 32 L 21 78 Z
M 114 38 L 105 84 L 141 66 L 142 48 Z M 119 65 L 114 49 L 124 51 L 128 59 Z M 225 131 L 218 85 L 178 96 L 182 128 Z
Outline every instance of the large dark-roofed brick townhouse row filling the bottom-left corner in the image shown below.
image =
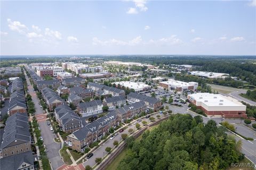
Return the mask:
M 0 142 L 1 169 L 34 169 L 28 117 L 22 113 L 9 116 Z

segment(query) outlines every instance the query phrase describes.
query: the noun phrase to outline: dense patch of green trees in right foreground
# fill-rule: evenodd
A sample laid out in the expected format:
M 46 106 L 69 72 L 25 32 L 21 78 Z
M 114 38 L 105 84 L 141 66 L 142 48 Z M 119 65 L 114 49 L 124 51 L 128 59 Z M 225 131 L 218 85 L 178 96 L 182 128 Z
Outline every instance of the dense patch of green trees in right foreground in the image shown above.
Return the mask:
M 241 142 L 217 127 L 215 121 L 203 124 L 202 117 L 176 114 L 140 141 L 126 139 L 129 148 L 117 169 L 217 170 L 227 169 L 243 158 Z

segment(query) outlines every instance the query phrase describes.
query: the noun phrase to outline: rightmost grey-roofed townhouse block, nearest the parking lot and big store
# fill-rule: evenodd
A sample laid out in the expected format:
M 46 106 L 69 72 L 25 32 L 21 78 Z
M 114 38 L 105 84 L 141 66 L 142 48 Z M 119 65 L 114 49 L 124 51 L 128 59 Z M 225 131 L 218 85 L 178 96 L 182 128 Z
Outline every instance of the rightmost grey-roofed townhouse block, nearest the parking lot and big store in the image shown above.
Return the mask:
M 130 94 L 127 95 L 127 102 L 129 104 L 136 103 L 138 101 L 145 101 L 147 108 L 155 112 L 159 111 L 159 109 L 163 107 L 162 102 L 154 97 L 137 94 L 135 92 L 130 92 Z

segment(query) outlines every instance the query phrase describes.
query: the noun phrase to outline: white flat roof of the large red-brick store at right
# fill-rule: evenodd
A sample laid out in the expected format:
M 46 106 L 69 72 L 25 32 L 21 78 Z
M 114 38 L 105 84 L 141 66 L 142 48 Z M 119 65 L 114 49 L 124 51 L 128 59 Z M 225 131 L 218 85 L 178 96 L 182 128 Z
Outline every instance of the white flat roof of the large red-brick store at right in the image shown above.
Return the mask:
M 188 95 L 194 100 L 201 101 L 207 106 L 245 106 L 238 100 L 220 94 L 209 94 L 208 92 Z

